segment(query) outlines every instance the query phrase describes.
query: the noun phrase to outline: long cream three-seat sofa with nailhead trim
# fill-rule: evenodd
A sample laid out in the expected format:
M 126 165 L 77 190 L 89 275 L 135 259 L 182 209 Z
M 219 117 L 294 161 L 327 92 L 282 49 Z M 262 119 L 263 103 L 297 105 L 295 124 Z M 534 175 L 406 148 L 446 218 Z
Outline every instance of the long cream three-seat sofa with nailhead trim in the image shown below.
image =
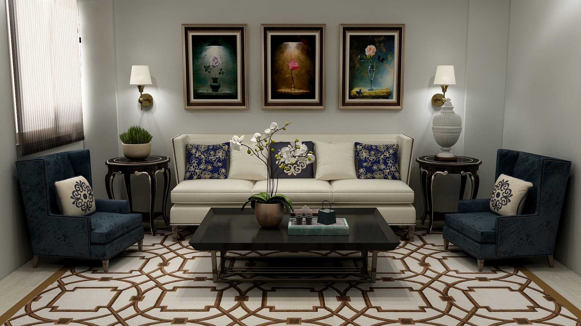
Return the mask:
M 185 147 L 191 144 L 217 144 L 227 142 L 232 134 L 179 135 L 172 140 L 175 176 L 177 186 L 171 191 L 173 206 L 170 211 L 170 224 L 174 240 L 178 227 L 196 225 L 202 222 L 211 207 L 241 207 L 252 193 L 266 189 L 266 180 L 184 180 L 186 165 Z M 250 139 L 252 134 L 245 135 Z M 407 135 L 292 135 L 280 133 L 274 139 L 278 142 L 292 142 L 295 139 L 313 142 L 362 142 L 369 144 L 397 143 L 398 163 L 401 180 L 377 179 L 279 179 L 278 193 L 287 195 L 295 207 L 309 205 L 320 207 L 321 202 L 329 200 L 333 207 L 376 207 L 390 225 L 407 226 L 413 239 L 415 227 L 414 191 L 410 182 L 411 157 L 414 139 Z M 316 172 L 317 146 L 314 148 Z M 229 164 L 229 162 L 228 162 Z M 355 165 L 355 162 L 353 162 Z M 229 168 L 229 166 L 228 166 Z M 354 166 L 356 168 L 356 166 Z M 265 168 L 266 169 L 266 168 Z

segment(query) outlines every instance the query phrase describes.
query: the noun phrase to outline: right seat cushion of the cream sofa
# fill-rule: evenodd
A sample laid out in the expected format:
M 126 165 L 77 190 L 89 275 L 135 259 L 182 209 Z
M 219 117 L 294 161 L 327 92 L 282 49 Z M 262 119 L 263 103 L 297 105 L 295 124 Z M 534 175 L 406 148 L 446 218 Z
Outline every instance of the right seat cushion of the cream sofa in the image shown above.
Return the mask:
M 414 202 L 414 190 L 401 180 L 332 180 L 333 202 L 337 203 L 408 203 Z

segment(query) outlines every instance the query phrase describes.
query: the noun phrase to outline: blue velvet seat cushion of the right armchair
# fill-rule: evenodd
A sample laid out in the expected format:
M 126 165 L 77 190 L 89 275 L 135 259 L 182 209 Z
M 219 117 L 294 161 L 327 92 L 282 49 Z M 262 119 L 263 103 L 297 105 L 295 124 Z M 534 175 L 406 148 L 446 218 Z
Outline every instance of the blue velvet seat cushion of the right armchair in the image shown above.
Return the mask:
M 444 224 L 472 240 L 496 242 L 496 216 L 493 212 L 452 213 L 444 216 Z

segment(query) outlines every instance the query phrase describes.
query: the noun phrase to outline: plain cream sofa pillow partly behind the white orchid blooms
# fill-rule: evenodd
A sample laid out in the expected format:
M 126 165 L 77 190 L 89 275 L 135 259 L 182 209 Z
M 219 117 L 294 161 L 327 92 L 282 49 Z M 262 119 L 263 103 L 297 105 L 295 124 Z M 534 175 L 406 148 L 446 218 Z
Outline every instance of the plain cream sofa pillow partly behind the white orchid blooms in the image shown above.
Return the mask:
M 252 142 L 242 142 L 246 146 L 253 148 Z M 228 166 L 228 179 L 238 180 L 266 180 L 266 165 L 256 155 L 260 155 L 263 161 L 267 161 L 268 153 L 266 148 L 260 152 L 254 152 L 254 155 L 248 154 L 248 148 L 242 146 L 241 150 L 232 150 L 230 148 L 230 165 Z

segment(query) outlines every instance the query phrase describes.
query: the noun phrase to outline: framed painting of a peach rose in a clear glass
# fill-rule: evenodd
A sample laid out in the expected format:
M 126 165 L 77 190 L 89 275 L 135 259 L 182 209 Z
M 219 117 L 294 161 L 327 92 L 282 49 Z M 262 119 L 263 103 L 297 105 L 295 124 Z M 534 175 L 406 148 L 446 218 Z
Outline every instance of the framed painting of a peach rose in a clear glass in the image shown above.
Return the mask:
M 405 24 L 340 26 L 339 108 L 401 109 Z

